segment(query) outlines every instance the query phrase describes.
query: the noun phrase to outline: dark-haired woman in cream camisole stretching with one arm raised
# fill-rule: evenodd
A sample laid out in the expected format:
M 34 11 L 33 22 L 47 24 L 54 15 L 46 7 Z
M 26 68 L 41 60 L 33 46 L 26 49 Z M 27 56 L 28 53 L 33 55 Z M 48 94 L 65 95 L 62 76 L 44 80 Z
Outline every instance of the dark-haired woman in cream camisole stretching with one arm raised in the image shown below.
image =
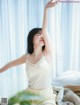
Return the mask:
M 48 8 L 54 7 L 58 1 L 49 1 L 44 9 L 44 18 L 42 28 L 34 28 L 28 34 L 28 54 L 9 62 L 0 73 L 10 67 L 26 63 L 29 86 L 27 91 L 40 94 L 43 100 L 39 105 L 56 105 L 55 94 L 51 87 L 51 65 L 52 49 L 50 38 L 47 32 L 47 11 Z

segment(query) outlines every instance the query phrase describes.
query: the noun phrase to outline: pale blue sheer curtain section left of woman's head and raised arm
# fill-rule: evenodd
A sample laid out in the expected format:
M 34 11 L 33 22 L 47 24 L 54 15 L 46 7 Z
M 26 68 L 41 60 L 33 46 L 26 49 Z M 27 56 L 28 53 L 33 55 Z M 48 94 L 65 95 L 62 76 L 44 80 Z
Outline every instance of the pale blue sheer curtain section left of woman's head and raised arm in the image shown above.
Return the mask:
M 42 27 L 43 0 L 0 0 L 0 68 L 26 52 L 27 35 Z M 0 97 L 9 97 L 27 87 L 25 64 L 0 74 Z

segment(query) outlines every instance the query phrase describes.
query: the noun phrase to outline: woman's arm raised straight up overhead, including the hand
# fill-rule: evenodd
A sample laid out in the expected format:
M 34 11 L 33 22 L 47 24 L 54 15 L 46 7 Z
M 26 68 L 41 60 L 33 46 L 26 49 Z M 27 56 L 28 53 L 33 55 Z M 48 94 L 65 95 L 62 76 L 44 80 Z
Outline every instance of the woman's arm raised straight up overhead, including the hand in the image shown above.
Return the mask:
M 51 45 L 51 40 L 50 40 L 50 37 L 48 34 L 48 30 L 47 30 L 47 25 L 48 25 L 47 12 L 48 12 L 48 9 L 51 7 L 54 7 L 58 1 L 59 0 L 57 0 L 56 2 L 53 2 L 53 0 L 51 0 L 46 4 L 46 6 L 44 8 L 42 35 L 43 35 L 44 42 L 45 42 L 45 53 L 47 53 L 49 55 L 52 55 L 52 48 L 51 48 L 52 45 Z

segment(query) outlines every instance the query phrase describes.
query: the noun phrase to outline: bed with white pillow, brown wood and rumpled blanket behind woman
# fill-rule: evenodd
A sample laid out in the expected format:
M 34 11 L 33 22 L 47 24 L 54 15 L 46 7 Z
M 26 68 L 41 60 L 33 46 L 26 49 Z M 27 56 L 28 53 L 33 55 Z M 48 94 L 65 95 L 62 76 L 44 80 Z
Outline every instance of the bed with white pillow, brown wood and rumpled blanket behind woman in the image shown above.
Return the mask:
M 80 72 L 68 71 L 53 79 L 58 105 L 80 105 Z

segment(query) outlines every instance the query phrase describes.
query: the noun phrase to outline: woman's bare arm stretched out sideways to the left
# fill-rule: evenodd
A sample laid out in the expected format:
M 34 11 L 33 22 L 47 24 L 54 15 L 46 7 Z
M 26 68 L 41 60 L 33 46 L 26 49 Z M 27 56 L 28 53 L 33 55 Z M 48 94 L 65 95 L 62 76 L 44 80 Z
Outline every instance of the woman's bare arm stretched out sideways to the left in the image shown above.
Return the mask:
M 16 59 L 16 60 L 13 60 L 11 62 L 8 62 L 4 67 L 2 67 L 0 69 L 0 73 L 8 70 L 9 68 L 11 67 L 14 67 L 14 66 L 17 66 L 17 65 L 20 65 L 20 64 L 23 64 L 26 62 L 26 54 L 22 55 L 20 58 Z

